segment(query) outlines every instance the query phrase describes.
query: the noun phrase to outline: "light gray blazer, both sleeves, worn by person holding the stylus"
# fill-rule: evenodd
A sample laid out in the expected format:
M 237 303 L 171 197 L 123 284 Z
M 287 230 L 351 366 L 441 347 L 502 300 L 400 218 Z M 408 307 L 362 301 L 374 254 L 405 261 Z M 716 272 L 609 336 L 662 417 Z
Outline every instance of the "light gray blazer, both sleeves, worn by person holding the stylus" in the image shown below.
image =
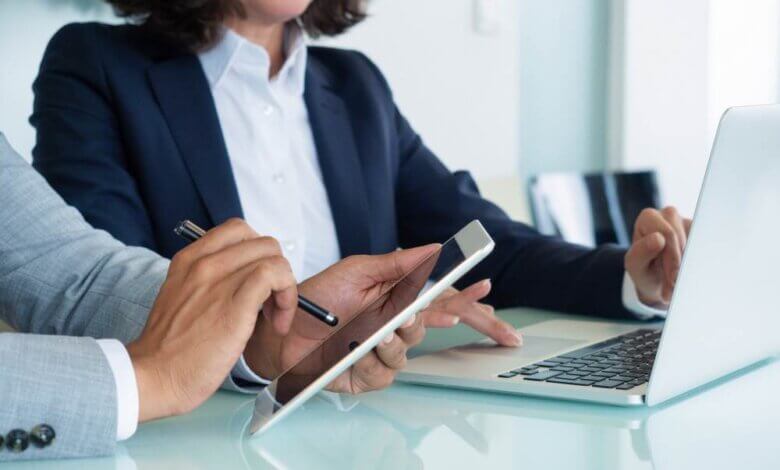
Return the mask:
M 92 338 L 137 337 L 167 267 L 94 230 L 0 134 L 0 319 L 25 333 L 0 334 L 0 434 L 57 433 L 0 460 L 113 452 L 114 378 Z

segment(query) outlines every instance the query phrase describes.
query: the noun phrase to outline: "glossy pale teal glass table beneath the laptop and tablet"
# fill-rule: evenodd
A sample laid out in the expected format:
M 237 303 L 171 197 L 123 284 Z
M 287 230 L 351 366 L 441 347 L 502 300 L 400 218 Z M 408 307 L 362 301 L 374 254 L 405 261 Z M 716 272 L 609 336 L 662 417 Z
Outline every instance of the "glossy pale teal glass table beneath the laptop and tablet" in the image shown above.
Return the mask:
M 520 327 L 561 317 L 500 315 Z M 476 339 L 465 327 L 434 330 L 416 352 Z M 3 468 L 777 469 L 778 391 L 780 361 L 652 409 L 395 384 L 321 394 L 253 439 L 243 437 L 253 397 L 219 392 L 189 415 L 140 426 L 115 457 Z

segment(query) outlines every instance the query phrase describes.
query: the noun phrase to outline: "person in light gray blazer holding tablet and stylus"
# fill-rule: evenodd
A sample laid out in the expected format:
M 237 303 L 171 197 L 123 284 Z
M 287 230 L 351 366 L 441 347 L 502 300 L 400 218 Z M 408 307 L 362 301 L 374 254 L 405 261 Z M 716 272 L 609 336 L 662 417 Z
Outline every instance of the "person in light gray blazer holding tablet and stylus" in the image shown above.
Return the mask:
M 17 331 L 0 333 L 0 461 L 110 454 L 221 384 L 255 391 L 328 334 L 295 315 L 298 290 L 339 292 L 346 320 L 431 250 L 348 258 L 296 285 L 279 244 L 231 220 L 169 264 L 93 229 L 0 133 L 0 319 Z M 423 335 L 418 316 L 331 389 L 387 386 Z

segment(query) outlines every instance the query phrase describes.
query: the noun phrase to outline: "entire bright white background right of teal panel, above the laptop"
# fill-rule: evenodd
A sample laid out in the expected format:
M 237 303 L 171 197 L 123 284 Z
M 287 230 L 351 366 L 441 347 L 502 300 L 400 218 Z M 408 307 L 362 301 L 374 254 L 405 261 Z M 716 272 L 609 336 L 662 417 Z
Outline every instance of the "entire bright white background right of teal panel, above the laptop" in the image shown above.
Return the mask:
M 778 0 L 613 1 L 611 166 L 693 214 L 723 111 L 778 99 L 779 28 Z

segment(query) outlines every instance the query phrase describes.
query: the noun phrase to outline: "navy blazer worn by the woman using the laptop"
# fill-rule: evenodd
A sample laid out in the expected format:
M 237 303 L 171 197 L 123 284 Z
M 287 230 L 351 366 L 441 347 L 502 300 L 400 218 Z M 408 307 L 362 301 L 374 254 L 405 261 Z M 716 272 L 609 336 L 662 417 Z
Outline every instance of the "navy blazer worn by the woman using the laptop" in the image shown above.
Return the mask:
M 95 227 L 171 257 L 183 246 L 177 221 L 212 227 L 242 216 L 191 52 L 143 27 L 72 24 L 49 43 L 34 91 L 34 165 Z M 461 286 L 491 278 L 496 307 L 629 316 L 624 250 L 571 245 L 510 220 L 425 147 L 365 56 L 310 47 L 304 96 L 342 256 L 442 242 L 479 219 L 496 249 Z

